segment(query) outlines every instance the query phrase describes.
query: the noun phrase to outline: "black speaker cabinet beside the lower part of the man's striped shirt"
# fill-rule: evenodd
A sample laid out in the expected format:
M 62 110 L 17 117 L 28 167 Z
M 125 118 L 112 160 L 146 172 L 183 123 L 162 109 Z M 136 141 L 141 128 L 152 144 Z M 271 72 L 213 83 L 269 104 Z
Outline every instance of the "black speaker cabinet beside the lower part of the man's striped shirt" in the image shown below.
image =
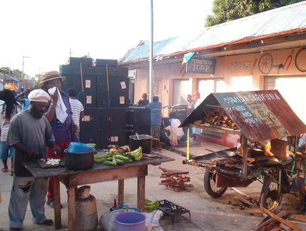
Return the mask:
M 81 130 L 100 130 L 100 108 L 84 108 L 84 118 L 80 123 Z

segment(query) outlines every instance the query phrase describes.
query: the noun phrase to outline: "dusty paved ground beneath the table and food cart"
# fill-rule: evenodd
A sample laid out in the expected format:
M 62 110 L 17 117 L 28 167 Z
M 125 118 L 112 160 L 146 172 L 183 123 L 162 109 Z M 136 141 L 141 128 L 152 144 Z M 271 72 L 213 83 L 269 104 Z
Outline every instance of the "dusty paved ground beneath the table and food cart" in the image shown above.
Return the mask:
M 190 152 L 193 155 L 207 154 L 208 148 L 210 150 L 222 150 L 223 146 L 214 145 L 211 143 L 202 143 L 200 148 L 191 148 Z M 178 148 L 181 152 L 185 152 L 186 148 Z M 162 165 L 149 165 L 148 176 L 146 177 L 146 198 L 148 200 L 170 200 L 177 205 L 185 207 L 190 210 L 191 220 L 188 214 L 183 214 L 175 217 L 174 225 L 171 225 L 170 217 L 162 217 L 160 225 L 163 230 L 253 230 L 263 219 L 262 212 L 258 206 L 245 207 L 240 210 L 238 205 L 240 200 L 237 193 L 228 188 L 225 194 L 219 198 L 210 197 L 203 188 L 203 168 L 196 168 L 191 165 L 183 165 L 182 161 L 185 160 L 183 155 L 174 153 L 173 151 L 163 149 L 162 155 L 174 158 L 175 161 L 163 163 Z M 174 192 L 168 190 L 160 183 L 160 174 L 163 173 L 158 167 L 188 171 L 190 176 L 190 183 L 194 185 L 190 188 L 190 192 L 181 191 Z M 9 195 L 11 190 L 12 177 L 9 173 L 0 173 L 0 185 L 2 193 L 2 203 L 0 204 L 0 226 L 2 230 L 8 230 L 8 215 L 7 207 Z M 125 180 L 125 204 L 131 207 L 136 207 L 136 178 Z M 107 212 L 113 206 L 113 200 L 116 199 L 117 194 L 117 181 L 106 183 L 96 183 L 91 186 L 91 195 L 96 197 L 96 204 L 98 207 L 98 217 L 100 218 L 104 212 Z M 255 182 L 246 188 L 238 188 L 241 192 L 253 197 L 259 198 L 261 183 Z M 61 203 L 62 209 L 62 225 L 61 230 L 68 230 L 67 219 L 67 196 L 66 188 L 61 185 Z M 304 215 L 298 215 L 300 212 L 300 201 L 296 200 L 291 195 L 285 195 L 282 201 L 284 205 L 283 210 L 292 212 L 293 216 L 290 221 L 298 225 L 302 230 L 306 230 L 306 219 Z M 46 216 L 53 219 L 53 209 L 46 206 Z M 36 225 L 31 221 L 31 212 L 28 206 L 24 227 L 22 231 L 40 231 L 40 230 L 54 230 L 54 225 L 51 227 Z M 101 230 L 98 226 L 96 230 Z

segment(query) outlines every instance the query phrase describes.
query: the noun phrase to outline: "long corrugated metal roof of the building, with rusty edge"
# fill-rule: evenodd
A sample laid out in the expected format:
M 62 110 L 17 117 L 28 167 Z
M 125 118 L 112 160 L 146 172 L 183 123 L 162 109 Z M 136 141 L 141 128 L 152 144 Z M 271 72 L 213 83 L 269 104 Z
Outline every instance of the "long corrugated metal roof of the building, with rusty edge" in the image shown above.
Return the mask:
M 300 31 L 306 31 L 306 1 L 211 26 L 195 34 L 157 41 L 153 44 L 153 56 L 170 56 Z M 146 61 L 149 54 L 149 45 L 138 46 L 128 51 L 118 63 Z

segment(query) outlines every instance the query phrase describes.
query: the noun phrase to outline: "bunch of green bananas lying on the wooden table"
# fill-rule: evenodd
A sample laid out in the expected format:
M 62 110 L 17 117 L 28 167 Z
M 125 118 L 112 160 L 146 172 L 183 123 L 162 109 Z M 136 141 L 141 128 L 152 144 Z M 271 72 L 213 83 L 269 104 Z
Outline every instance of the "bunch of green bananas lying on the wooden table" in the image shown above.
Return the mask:
M 133 150 L 128 153 L 118 153 L 114 151 L 109 151 L 103 155 L 94 155 L 94 162 L 95 163 L 102 163 L 104 165 L 124 165 L 126 162 L 132 162 L 133 160 L 141 160 L 143 157 L 142 148 L 139 147 L 136 150 Z

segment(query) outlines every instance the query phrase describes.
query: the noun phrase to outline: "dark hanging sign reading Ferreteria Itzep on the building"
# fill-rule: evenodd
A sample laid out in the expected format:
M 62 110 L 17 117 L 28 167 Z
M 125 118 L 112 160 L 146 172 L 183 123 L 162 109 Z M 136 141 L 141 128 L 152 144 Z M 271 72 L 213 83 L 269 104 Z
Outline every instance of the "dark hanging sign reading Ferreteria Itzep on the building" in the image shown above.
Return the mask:
M 213 58 L 191 58 L 186 72 L 214 74 L 215 63 Z

